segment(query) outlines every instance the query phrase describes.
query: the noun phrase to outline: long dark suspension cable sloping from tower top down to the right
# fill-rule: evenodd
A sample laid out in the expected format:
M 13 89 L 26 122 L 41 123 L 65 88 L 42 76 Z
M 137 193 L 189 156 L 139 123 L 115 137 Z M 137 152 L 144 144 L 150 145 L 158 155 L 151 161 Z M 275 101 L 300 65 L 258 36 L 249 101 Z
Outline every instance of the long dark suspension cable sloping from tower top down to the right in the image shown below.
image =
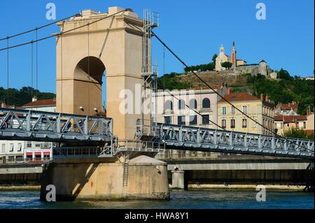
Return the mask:
M 257 122 L 256 120 L 254 120 L 252 117 L 249 117 L 246 113 L 244 113 L 243 111 L 241 111 L 239 108 L 237 108 L 236 106 L 234 106 L 230 101 L 228 101 L 227 99 L 224 98 L 224 96 L 222 96 L 221 94 L 219 94 L 213 87 L 211 87 L 206 81 L 204 81 L 202 78 L 200 78 L 199 75 L 197 75 L 197 73 L 195 73 L 195 71 L 193 71 L 193 69 L 190 69 L 190 67 L 185 63 L 183 62 L 183 60 L 181 58 L 179 58 L 179 56 L 177 56 L 175 54 L 175 52 L 170 49 L 161 39 L 160 37 L 158 37 L 153 31 L 151 31 L 152 34 L 155 36 L 155 38 L 158 39 L 158 41 L 160 43 L 162 43 L 162 45 L 165 46 L 165 48 L 167 48 L 167 50 L 169 50 L 169 52 L 172 53 L 172 55 L 174 55 L 174 57 L 176 57 L 176 59 L 179 60 L 179 62 L 181 62 L 181 64 L 183 64 L 183 66 L 186 66 L 186 68 L 192 72 L 200 81 L 202 81 L 204 83 L 204 85 L 207 85 L 207 87 L 209 87 L 211 90 L 213 90 L 216 94 L 218 94 L 218 96 L 220 96 L 225 102 L 227 102 L 228 104 L 230 104 L 230 106 L 232 106 L 233 108 L 235 108 L 236 110 L 238 110 L 241 114 L 245 115 L 246 117 L 248 117 L 248 119 L 252 120 L 253 122 L 255 122 L 256 124 L 258 124 L 260 127 L 264 128 L 264 129 L 267 129 L 268 131 L 270 131 L 272 134 L 274 134 L 274 136 L 276 136 L 276 138 L 282 138 L 281 136 L 279 136 L 278 134 L 276 134 L 275 131 L 272 131 L 271 129 L 268 129 L 267 127 L 263 126 L 262 124 L 260 124 L 259 122 Z M 290 141 L 288 139 L 286 139 L 287 141 Z M 293 141 L 290 141 L 291 143 L 295 144 L 295 145 L 298 145 L 297 143 L 293 142 Z M 304 146 L 302 145 L 298 145 L 300 146 L 301 148 L 304 148 Z M 308 148 L 304 148 L 305 150 L 309 150 Z M 311 152 L 314 152 L 312 150 L 309 150 Z

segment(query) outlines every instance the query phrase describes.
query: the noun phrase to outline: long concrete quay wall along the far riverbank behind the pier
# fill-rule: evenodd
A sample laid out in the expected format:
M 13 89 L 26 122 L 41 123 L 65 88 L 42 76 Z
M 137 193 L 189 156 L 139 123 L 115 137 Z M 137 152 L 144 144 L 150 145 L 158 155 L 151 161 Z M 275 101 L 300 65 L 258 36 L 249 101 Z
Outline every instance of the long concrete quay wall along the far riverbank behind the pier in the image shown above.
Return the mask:
M 251 159 L 249 159 L 251 158 Z M 168 159 L 170 189 L 314 188 L 314 163 L 301 159 Z M 311 165 L 313 164 L 313 166 Z M 176 171 L 174 171 L 177 169 Z M 41 164 L 0 165 L 0 189 L 39 187 Z M 132 179 L 130 179 L 132 182 Z

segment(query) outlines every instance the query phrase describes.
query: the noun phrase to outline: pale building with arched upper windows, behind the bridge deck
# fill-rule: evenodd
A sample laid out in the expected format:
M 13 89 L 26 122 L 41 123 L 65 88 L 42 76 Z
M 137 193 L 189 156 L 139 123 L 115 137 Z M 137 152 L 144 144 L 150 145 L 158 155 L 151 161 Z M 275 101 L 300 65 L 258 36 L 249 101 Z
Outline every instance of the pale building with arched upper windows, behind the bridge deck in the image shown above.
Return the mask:
M 214 89 L 225 96 L 230 89 L 227 85 L 215 86 Z M 176 96 L 175 99 L 167 92 L 158 92 L 156 98 L 157 103 L 157 121 L 165 124 L 179 124 L 193 127 L 205 127 L 211 129 L 218 129 L 218 101 L 221 99 L 212 89 L 195 88 L 173 90 L 172 94 Z M 178 100 L 179 99 L 179 100 Z M 201 115 L 195 113 L 187 106 L 196 110 Z M 209 120 L 211 120 L 211 123 Z M 185 150 L 166 150 L 158 153 L 157 159 L 189 159 L 193 157 L 216 157 L 216 153 L 212 152 L 194 152 Z

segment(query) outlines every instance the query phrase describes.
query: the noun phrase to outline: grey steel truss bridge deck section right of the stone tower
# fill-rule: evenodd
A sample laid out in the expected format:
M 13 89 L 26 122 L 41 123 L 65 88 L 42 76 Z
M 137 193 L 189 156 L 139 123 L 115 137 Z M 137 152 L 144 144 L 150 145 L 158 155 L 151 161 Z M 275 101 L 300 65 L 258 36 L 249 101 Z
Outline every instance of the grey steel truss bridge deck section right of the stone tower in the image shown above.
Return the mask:
M 158 123 L 165 149 L 314 159 L 314 141 Z

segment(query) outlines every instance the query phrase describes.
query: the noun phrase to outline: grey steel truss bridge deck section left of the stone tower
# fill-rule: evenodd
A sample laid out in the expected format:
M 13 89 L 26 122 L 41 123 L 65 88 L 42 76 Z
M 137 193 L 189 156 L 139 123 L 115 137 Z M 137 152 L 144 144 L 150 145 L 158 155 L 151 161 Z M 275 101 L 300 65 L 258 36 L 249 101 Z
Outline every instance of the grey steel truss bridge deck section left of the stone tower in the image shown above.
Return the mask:
M 110 118 L 0 108 L 0 139 L 48 142 L 111 142 Z

